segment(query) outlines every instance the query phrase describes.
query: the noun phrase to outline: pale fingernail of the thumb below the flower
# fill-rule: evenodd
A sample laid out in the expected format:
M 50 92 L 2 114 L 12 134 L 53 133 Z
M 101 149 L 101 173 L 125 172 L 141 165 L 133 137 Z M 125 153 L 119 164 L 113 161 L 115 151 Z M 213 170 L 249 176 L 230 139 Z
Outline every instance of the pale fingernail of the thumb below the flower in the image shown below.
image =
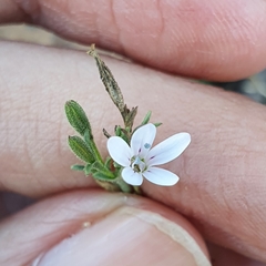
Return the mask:
M 194 238 L 158 214 L 121 207 L 63 239 L 34 266 L 186 265 L 211 266 Z

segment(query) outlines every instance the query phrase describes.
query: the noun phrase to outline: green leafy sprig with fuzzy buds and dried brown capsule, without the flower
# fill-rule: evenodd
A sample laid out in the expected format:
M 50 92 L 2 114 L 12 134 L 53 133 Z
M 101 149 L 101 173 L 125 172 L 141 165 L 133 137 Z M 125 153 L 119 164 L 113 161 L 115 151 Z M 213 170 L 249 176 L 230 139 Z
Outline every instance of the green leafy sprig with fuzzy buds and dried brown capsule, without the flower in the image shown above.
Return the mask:
M 95 59 L 100 78 L 105 90 L 123 117 L 124 125 L 115 125 L 114 135 L 122 137 L 129 144 L 133 132 L 150 122 L 152 112 L 149 111 L 142 123 L 133 130 L 137 106 L 132 108 L 131 110 L 126 106 L 117 82 L 110 69 L 98 54 L 94 44 L 91 45 L 88 54 Z M 84 165 L 72 165 L 71 168 L 84 172 L 85 176 L 92 175 L 96 183 L 109 191 L 123 191 L 140 194 L 140 187 L 131 186 L 121 178 L 122 167 L 120 165 L 114 163 L 111 157 L 106 157 L 105 161 L 102 158 L 94 142 L 91 124 L 81 105 L 78 102 L 70 100 L 65 103 L 64 110 L 69 123 L 79 133 L 79 135 L 69 136 L 69 146 L 76 157 L 84 163 Z M 161 123 L 154 123 L 154 125 L 158 126 Z M 106 137 L 112 136 L 104 129 L 103 134 Z

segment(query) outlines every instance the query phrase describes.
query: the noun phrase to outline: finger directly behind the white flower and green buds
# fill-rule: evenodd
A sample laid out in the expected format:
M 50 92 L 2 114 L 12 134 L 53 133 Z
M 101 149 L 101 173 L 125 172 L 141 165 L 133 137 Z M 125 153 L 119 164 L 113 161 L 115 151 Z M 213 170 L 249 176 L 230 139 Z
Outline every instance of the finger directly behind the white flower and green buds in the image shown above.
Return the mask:
M 80 102 L 106 155 L 102 129 L 112 132 L 121 120 L 94 61 L 58 49 L 0 48 L 1 188 L 43 196 L 92 185 L 69 170 L 76 160 L 66 146 L 73 131 L 63 105 Z M 265 106 L 140 65 L 106 63 L 127 105 L 139 105 L 137 122 L 152 110 L 153 120 L 164 123 L 157 141 L 181 131 L 192 135 L 191 146 L 167 165 L 180 183 L 170 188 L 144 183 L 145 194 L 194 219 L 207 239 L 265 262 Z

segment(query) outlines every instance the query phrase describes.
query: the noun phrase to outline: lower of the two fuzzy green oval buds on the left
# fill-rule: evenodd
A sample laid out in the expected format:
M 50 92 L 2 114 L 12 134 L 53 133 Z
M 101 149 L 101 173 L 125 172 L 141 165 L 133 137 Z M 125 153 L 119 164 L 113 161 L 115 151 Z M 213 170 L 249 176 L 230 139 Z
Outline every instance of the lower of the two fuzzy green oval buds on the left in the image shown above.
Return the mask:
M 69 146 L 80 160 L 86 163 L 93 163 L 95 161 L 88 144 L 80 136 L 69 136 Z

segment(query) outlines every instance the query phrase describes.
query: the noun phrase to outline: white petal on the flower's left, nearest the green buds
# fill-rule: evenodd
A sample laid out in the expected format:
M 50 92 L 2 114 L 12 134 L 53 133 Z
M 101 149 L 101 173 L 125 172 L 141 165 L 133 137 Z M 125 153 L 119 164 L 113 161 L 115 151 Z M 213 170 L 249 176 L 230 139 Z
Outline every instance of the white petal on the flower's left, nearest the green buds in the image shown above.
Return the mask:
M 111 136 L 108 140 L 108 150 L 113 161 L 122 166 L 130 166 L 132 151 L 127 143 L 120 136 Z

